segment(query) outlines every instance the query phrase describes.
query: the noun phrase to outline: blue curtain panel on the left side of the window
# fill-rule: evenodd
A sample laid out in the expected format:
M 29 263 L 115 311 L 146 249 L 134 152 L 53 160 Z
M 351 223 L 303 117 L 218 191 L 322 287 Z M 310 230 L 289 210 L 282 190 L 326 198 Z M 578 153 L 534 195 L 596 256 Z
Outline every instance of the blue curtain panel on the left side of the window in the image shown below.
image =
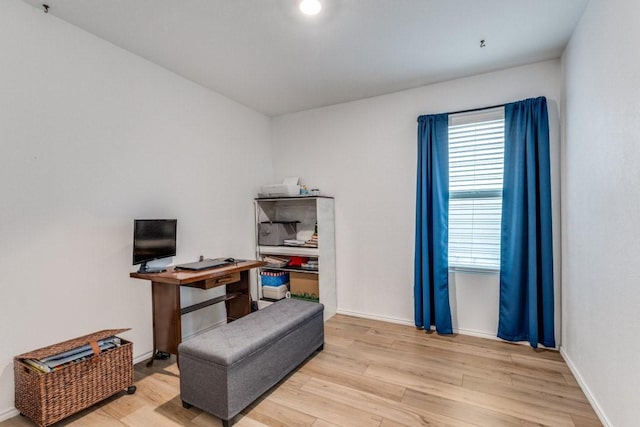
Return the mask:
M 449 115 L 418 117 L 415 324 L 451 334 L 448 272 Z

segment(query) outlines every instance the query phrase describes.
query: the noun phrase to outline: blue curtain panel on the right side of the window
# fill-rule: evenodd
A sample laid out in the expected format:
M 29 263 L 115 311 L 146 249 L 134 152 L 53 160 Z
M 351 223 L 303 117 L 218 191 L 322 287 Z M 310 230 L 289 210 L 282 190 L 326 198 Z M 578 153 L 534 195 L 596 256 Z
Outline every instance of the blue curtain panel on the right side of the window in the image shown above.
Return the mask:
M 544 97 L 505 105 L 498 337 L 555 347 L 549 120 Z

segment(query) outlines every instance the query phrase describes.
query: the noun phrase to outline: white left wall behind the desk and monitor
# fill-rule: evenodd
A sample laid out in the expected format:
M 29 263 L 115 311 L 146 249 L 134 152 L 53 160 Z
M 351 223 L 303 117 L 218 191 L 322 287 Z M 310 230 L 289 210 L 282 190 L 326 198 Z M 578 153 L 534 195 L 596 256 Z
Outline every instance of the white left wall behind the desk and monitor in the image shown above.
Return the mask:
M 267 117 L 19 0 L 0 2 L 0 52 L 2 419 L 14 355 L 118 327 L 134 356 L 152 350 L 134 218 L 178 219 L 175 262 L 252 257 L 272 169 Z M 185 316 L 184 334 L 216 319 Z

